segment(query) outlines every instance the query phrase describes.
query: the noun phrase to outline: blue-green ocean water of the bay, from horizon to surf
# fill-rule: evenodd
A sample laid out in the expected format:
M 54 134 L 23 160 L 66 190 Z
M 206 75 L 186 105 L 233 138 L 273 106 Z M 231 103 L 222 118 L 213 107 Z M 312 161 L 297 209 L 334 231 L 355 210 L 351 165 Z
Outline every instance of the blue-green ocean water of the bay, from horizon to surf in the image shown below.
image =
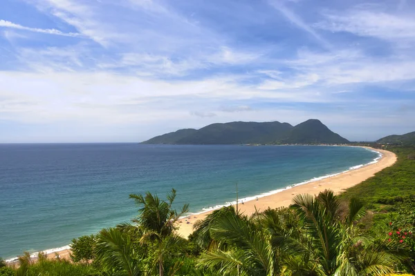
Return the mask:
M 0 256 L 56 248 L 129 221 L 130 193 L 177 190 L 192 213 L 367 164 L 337 146 L 0 145 Z

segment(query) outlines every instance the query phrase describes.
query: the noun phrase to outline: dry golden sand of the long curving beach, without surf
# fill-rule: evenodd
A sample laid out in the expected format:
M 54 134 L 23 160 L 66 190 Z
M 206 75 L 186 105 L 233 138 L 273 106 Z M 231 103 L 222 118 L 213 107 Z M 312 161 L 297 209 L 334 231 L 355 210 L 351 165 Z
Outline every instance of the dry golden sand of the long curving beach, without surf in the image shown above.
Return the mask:
M 372 148 L 369 148 L 372 149 Z M 313 181 L 308 184 L 295 186 L 293 188 L 288 188 L 282 190 L 279 193 L 274 195 L 268 195 L 266 197 L 260 197 L 258 200 L 243 201 L 243 204 L 238 204 L 239 211 L 245 215 L 252 215 L 255 213 L 255 208 L 260 212 L 270 208 L 278 207 L 287 207 L 291 204 L 291 200 L 295 195 L 298 194 L 311 194 L 317 195 L 323 190 L 330 189 L 333 190 L 335 194 L 342 193 L 342 191 L 360 184 L 360 182 L 365 181 L 369 177 L 375 175 L 376 172 L 383 170 L 389 166 L 392 166 L 397 157 L 394 152 L 387 150 L 378 150 L 376 151 L 382 153 L 382 158 L 374 164 L 369 164 L 355 170 L 350 170 L 348 172 L 343 172 L 340 175 L 335 175 L 333 177 L 328 177 L 318 181 Z M 188 237 L 193 233 L 193 225 L 199 219 L 205 219 L 212 211 L 206 213 L 201 213 L 199 215 L 191 215 L 181 219 L 178 223 L 178 233 L 183 237 Z M 190 223 L 187 224 L 187 221 Z

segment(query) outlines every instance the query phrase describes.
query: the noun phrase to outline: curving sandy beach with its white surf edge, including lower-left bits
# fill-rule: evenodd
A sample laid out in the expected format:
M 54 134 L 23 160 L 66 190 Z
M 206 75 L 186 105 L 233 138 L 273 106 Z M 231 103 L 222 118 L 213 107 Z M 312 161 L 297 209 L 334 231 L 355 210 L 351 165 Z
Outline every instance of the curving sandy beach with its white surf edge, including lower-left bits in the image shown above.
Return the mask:
M 294 195 L 301 194 L 301 193 L 313 194 L 313 192 L 320 193 L 320 191 L 325 190 L 326 188 L 329 188 L 333 190 L 335 194 L 338 194 L 338 193 L 341 193 L 342 190 L 345 190 L 346 188 L 360 184 L 360 182 L 373 176 L 376 172 L 384 168 L 387 168 L 389 166 L 392 166 L 396 162 L 396 159 L 397 159 L 394 152 L 390 152 L 388 150 L 378 150 L 378 149 L 370 148 L 367 146 L 351 146 L 351 147 L 360 147 L 360 148 L 365 148 L 373 152 L 377 152 L 378 157 L 376 157 L 374 160 L 370 161 L 367 164 L 360 164 L 357 166 L 353 166 L 349 168 L 349 170 L 344 170 L 342 172 L 333 173 L 331 175 L 314 177 L 313 179 L 308 179 L 298 184 L 291 184 L 289 186 L 286 186 L 285 188 L 279 188 L 277 190 L 271 190 L 261 195 L 255 195 L 252 197 L 245 197 L 245 198 L 239 199 L 238 200 L 239 210 L 241 211 L 241 213 L 244 213 L 246 215 L 251 215 L 252 213 L 255 213 L 256 208 L 258 211 L 260 211 L 260 210 L 266 210 L 266 208 L 268 207 L 278 208 L 278 207 L 283 207 L 283 206 L 289 206 L 291 204 L 291 199 L 294 197 Z M 353 175 L 355 175 L 355 177 L 353 177 L 353 180 L 354 180 L 358 172 L 367 171 L 365 170 L 366 168 L 370 168 L 371 172 L 370 174 L 364 173 L 365 175 L 364 179 L 358 181 L 357 183 L 355 183 L 356 181 L 351 181 L 353 183 L 347 186 L 346 188 L 344 188 L 344 185 L 340 185 L 341 187 L 337 187 L 340 189 L 333 188 L 335 184 L 331 184 L 331 181 L 336 181 L 337 177 L 344 177 L 344 175 L 347 175 L 347 173 L 349 174 L 353 173 Z M 359 176 L 359 179 L 361 179 L 360 173 L 358 176 Z M 309 186 L 316 185 L 316 184 L 319 184 L 319 185 L 317 187 L 313 186 L 313 189 L 310 190 Z M 304 192 L 302 192 L 302 190 L 304 190 Z M 281 197 L 282 200 L 278 199 L 278 197 Z M 290 197 L 289 200 L 286 199 L 286 197 Z M 243 204 L 241 203 L 241 201 L 243 201 Z M 193 224 L 195 221 L 204 219 L 214 210 L 222 208 L 223 206 L 230 206 L 234 204 L 236 204 L 236 201 L 227 202 L 226 204 L 223 204 L 221 206 L 215 206 L 214 208 L 203 210 L 200 213 L 189 213 L 189 215 L 186 215 L 185 217 L 182 217 L 181 219 L 178 220 L 179 221 L 178 222 L 179 229 L 177 231 L 178 234 L 181 235 L 182 237 L 187 238 L 188 235 L 190 235 L 193 232 Z M 189 219 L 189 224 L 187 224 L 187 219 Z M 48 259 L 55 259 L 57 255 L 59 255 L 59 257 L 62 259 L 70 259 L 71 246 L 66 245 L 66 246 L 62 246 L 59 248 L 50 248 L 47 250 L 30 253 L 30 257 L 33 260 L 36 260 L 39 252 L 46 253 Z M 6 263 L 11 266 L 17 264 L 17 257 L 6 259 Z

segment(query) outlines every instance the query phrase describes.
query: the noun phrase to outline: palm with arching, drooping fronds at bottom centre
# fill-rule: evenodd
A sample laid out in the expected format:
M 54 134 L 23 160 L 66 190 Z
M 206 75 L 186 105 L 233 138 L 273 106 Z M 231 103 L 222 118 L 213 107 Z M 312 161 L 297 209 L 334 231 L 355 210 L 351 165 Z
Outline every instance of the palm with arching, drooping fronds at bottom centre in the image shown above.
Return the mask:
M 224 212 L 211 224 L 210 236 L 226 246 L 202 253 L 199 266 L 217 269 L 221 275 L 277 275 L 278 251 L 254 219 Z

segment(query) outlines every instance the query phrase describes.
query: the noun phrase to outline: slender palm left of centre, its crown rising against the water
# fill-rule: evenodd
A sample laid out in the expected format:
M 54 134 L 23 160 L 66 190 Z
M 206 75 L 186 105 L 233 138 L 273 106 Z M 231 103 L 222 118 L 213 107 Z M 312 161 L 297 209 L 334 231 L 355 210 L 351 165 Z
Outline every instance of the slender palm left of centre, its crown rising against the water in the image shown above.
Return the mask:
M 160 200 L 157 195 L 151 195 L 147 192 L 143 195 L 129 196 L 136 201 L 138 209 L 138 217 L 133 219 L 138 227 L 142 230 L 140 243 L 147 242 L 156 243 L 155 259 L 158 263 L 159 275 L 164 275 L 163 261 L 169 250 L 178 248 L 183 239 L 174 233 L 176 221 L 189 210 L 189 204 L 185 204 L 178 213 L 172 208 L 174 199 L 176 198 L 176 190 L 172 189 L 167 194 L 167 201 Z

